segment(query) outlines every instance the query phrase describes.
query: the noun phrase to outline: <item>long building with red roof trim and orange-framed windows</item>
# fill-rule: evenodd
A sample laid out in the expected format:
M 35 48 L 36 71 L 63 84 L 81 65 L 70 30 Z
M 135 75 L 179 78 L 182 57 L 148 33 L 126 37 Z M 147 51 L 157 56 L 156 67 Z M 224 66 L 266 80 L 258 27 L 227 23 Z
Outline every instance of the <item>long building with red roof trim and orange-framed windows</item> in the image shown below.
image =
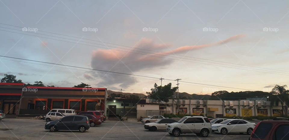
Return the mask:
M 0 83 L 0 110 L 8 115 L 45 115 L 53 108 L 106 113 L 106 88 L 26 87 L 22 83 Z

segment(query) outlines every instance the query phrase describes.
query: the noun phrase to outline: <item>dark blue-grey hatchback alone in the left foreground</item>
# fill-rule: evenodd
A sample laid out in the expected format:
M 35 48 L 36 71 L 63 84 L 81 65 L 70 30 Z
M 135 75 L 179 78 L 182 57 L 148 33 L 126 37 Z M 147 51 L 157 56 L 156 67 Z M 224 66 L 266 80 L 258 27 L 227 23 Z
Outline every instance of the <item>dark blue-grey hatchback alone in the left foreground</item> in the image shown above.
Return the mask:
M 44 128 L 50 132 L 56 132 L 57 130 L 79 130 L 79 132 L 85 132 L 90 128 L 90 124 L 86 116 L 69 115 L 59 120 L 47 122 Z

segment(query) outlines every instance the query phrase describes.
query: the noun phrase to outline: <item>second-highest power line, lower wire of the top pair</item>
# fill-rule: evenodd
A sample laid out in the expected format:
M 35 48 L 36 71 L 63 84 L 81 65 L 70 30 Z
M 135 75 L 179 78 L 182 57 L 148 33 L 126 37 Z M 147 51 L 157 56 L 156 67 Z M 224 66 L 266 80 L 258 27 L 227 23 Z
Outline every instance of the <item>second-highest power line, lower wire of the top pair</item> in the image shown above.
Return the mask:
M 0 30 L 0 31 L 11 32 L 11 31 L 6 31 L 6 30 Z M 17 33 L 17 34 L 22 34 L 22 35 L 28 35 L 28 34 L 23 34 L 23 33 L 18 33 L 18 32 L 12 32 L 12 33 Z M 29 35 L 29 36 L 46 38 L 46 37 L 36 36 L 36 35 Z M 52 40 L 57 40 L 57 41 L 64 41 L 64 40 L 59 40 L 59 39 L 54 39 L 54 38 L 47 38 L 47 39 L 52 39 Z M 92 46 L 92 47 L 99 47 L 99 46 L 93 46 L 93 45 L 82 44 L 82 43 L 77 43 L 77 42 L 70 42 L 70 41 L 64 41 L 64 42 L 69 42 L 69 43 L 74 43 L 74 44 L 81 44 L 81 45 L 87 45 L 87 46 Z M 108 48 L 105 48 L 105 47 L 99 47 L 99 48 L 108 49 Z M 120 48 L 120 49 L 122 49 L 122 48 Z M 116 50 L 116 49 L 110 49 L 110 50 Z M 122 51 L 122 52 L 127 52 L 127 53 L 135 53 L 135 52 L 123 51 L 123 50 L 117 50 L 117 51 Z M 144 52 L 144 53 L 148 53 L 148 52 Z M 148 55 L 148 54 L 142 54 L 142 53 L 135 53 L 135 54 L 146 55 L 146 56 L 153 56 L 153 57 L 159 57 L 159 58 L 165 58 L 165 59 L 172 59 L 172 60 L 179 60 L 179 61 L 185 61 L 185 62 L 192 62 L 192 61 L 186 61 L 186 60 L 180 60 L 180 59 L 173 59 L 173 58 L 166 58 L 166 57 L 154 56 L 155 54 L 154 54 L 154 55 Z M 160 55 L 160 54 L 157 54 L 157 55 Z M 169 57 L 174 57 L 174 56 L 169 56 Z M 200 61 L 200 60 L 194 60 L 194 61 Z M 206 61 L 204 61 L 204 62 L 206 62 Z M 205 65 L 213 65 L 213 64 L 200 63 L 200 62 L 193 62 L 193 63 L 199 63 L 199 64 L 205 64 Z M 214 62 L 208 62 L 208 63 L 214 63 Z M 219 64 L 219 63 L 216 63 L 216 64 Z M 234 65 L 229 65 L 229 66 L 233 66 L 233 67 L 227 67 L 227 66 L 222 66 L 222 65 L 226 65 L 226 64 L 220 64 L 220 65 L 214 65 L 214 66 L 220 66 L 220 67 L 226 67 L 226 68 L 240 67 L 240 66 L 234 66 Z M 255 70 L 250 70 L 250 69 L 255 69 L 255 68 L 250 68 L 250 69 L 243 69 L 243 68 L 246 68 L 246 67 L 235 68 L 235 69 L 241 69 L 241 70 L 247 70 L 247 71 L 253 71 L 253 72 L 268 71 L 268 70 L 261 70 L 261 69 L 256 69 L 256 70 L 261 70 L 261 71 L 255 71 Z M 277 75 L 283 75 L 283 74 L 279 74 L 279 73 L 284 73 L 284 72 L 278 72 L 278 73 L 271 73 L 271 72 L 274 72 L 274 71 L 263 72 L 263 73 L 277 74 Z M 289 73 L 285 73 L 285 74 L 289 74 Z M 289 75 L 287 75 L 287 76 L 289 76 Z

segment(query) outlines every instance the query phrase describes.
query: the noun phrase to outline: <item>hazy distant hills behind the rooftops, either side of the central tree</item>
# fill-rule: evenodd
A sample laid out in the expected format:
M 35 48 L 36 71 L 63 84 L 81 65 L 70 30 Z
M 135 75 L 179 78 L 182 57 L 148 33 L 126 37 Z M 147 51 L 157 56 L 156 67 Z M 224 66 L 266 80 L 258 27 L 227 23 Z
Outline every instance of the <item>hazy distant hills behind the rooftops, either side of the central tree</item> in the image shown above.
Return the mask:
M 112 91 L 112 90 L 107 90 L 108 94 L 112 94 L 112 93 L 115 93 L 115 94 L 128 94 L 128 95 L 137 95 L 139 96 L 140 98 L 144 98 L 146 99 L 147 96 L 142 94 L 142 93 L 124 93 L 124 92 L 118 92 L 118 91 Z M 177 94 L 177 92 L 175 92 L 175 94 Z M 210 95 L 198 95 L 198 94 L 189 94 L 189 93 L 185 93 L 185 92 L 182 92 L 182 93 L 179 93 L 179 96 L 180 98 L 182 97 L 187 97 L 187 99 L 193 99 L 193 100 L 208 100 L 210 99 Z

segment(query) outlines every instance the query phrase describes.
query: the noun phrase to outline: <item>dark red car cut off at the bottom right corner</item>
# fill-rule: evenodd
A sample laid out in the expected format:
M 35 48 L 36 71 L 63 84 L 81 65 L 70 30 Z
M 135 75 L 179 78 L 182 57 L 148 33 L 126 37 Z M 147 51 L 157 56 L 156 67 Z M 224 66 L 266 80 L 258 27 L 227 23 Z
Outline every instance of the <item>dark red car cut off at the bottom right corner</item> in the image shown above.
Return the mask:
M 287 120 L 263 120 L 260 121 L 249 140 L 285 140 L 289 139 L 289 121 Z

